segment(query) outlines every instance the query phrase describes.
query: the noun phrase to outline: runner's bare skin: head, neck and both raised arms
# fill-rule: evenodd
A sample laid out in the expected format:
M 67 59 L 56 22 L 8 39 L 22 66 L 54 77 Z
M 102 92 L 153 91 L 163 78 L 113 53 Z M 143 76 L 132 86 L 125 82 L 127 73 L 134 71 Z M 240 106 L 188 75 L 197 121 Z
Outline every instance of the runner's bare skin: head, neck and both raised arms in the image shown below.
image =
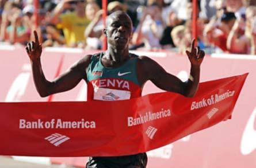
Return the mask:
M 36 89 L 40 96 L 45 97 L 54 93 L 68 91 L 74 88 L 82 79 L 86 81 L 86 68 L 89 65 L 91 55 L 83 57 L 77 61 L 68 71 L 60 75 L 54 81 L 45 79 L 41 67 L 42 46 L 39 42 L 37 32 L 35 41 L 31 41 L 26 46 L 26 52 L 32 65 L 33 79 Z M 109 15 L 106 21 L 104 34 L 107 37 L 108 49 L 105 51 L 101 62 L 105 67 L 116 68 L 123 65 L 129 59 L 128 45 L 132 37 L 132 21 L 123 11 L 116 11 Z M 137 64 L 137 78 L 143 85 L 150 80 L 157 87 L 169 91 L 180 93 L 181 95 L 192 97 L 198 88 L 200 79 L 200 65 L 204 58 L 204 51 L 194 46 L 195 40 L 192 41 L 188 55 L 191 68 L 190 79 L 182 82 L 166 72 L 157 62 L 147 56 L 140 56 Z

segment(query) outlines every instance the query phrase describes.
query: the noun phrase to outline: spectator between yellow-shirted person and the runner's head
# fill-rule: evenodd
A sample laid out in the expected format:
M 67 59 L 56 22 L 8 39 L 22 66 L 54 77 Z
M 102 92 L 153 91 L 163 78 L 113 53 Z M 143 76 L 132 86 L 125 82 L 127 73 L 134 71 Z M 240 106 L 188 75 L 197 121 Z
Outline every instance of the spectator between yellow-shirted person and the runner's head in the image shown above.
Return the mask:
M 86 16 L 91 22 L 85 30 L 86 49 L 101 49 L 101 36 L 104 29 L 102 13 L 96 2 L 87 3 Z

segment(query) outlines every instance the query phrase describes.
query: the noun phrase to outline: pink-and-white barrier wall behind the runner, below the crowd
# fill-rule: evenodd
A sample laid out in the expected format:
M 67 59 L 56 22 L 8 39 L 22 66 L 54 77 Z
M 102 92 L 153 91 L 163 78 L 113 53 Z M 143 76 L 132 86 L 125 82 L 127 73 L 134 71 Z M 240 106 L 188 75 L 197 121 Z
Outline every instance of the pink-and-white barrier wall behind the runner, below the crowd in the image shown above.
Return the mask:
M 23 48 L 5 47 L 1 49 L 0 53 L 0 101 L 47 101 L 47 97 L 41 98 L 36 92 L 30 70 L 30 62 L 25 50 Z M 95 52 L 83 52 L 82 50 L 65 48 L 58 51 L 45 49 L 42 56 L 45 76 L 49 80 L 54 78 L 60 62 L 60 56 L 63 54 L 65 57 L 61 69 L 62 73 L 83 55 L 91 53 Z M 177 75 L 181 79 L 187 79 L 188 77 L 190 63 L 186 56 L 161 52 L 137 52 L 137 54 L 151 56 L 167 72 Z M 185 138 L 174 143 L 149 151 L 147 153 L 149 156 L 147 167 L 254 168 L 256 166 L 255 67 L 255 56 L 206 56 L 201 65 L 200 81 L 220 79 L 246 72 L 250 74 L 246 79 L 246 83 L 244 83 L 234 108 L 232 120 L 221 122 L 214 127 L 185 136 Z M 156 88 L 150 82 L 144 86 L 144 95 L 155 92 L 161 92 L 161 89 Z M 86 85 L 85 83 L 80 83 L 72 91 L 54 95 L 52 100 L 83 101 L 85 99 Z M 158 131 L 156 131 L 155 136 Z M 6 132 L 4 135 L 11 133 Z M 68 140 L 63 144 L 67 142 Z M 18 143 L 18 139 L 16 143 Z M 51 158 L 51 161 L 85 167 L 86 158 Z

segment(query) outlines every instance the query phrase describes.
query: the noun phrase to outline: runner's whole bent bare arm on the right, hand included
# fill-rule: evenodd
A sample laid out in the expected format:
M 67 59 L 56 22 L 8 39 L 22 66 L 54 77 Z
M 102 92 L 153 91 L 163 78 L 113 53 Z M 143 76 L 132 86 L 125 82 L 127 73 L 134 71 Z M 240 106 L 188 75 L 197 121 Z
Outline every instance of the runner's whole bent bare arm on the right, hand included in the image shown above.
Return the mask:
M 192 41 L 191 50 L 186 51 L 191 68 L 188 81 L 182 82 L 178 77 L 167 73 L 157 62 L 151 58 L 140 57 L 138 77 L 143 85 L 147 80 L 151 80 L 156 87 L 165 91 L 180 93 L 187 97 L 193 97 L 197 91 L 200 80 L 200 65 L 204 58 L 204 51 L 199 47 L 194 47 L 195 40 Z

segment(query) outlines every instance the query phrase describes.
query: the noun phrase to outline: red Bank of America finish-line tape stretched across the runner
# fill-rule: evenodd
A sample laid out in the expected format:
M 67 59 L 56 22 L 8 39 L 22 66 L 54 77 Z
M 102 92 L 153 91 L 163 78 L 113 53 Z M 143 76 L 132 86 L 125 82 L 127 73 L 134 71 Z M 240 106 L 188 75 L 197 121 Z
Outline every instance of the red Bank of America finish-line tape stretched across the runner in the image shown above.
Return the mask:
M 0 103 L 0 134 L 10 132 L 0 140 L 0 154 L 117 156 L 156 149 L 230 118 L 246 76 L 202 83 L 193 98 L 163 92 L 112 102 Z

